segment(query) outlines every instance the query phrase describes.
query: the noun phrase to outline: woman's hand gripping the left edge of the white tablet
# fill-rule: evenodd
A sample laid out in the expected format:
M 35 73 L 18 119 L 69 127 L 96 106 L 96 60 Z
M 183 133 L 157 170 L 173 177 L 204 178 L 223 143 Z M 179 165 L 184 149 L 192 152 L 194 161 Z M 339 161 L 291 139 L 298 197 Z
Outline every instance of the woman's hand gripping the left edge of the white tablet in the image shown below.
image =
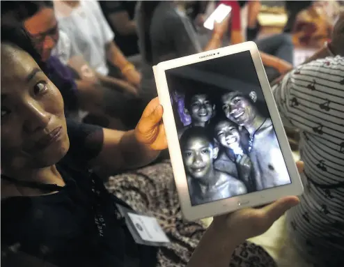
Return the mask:
M 167 148 L 164 123 L 162 122 L 163 113 L 164 109 L 159 104 L 159 99 L 154 98 L 148 103 L 135 128 L 136 139 L 152 150 Z

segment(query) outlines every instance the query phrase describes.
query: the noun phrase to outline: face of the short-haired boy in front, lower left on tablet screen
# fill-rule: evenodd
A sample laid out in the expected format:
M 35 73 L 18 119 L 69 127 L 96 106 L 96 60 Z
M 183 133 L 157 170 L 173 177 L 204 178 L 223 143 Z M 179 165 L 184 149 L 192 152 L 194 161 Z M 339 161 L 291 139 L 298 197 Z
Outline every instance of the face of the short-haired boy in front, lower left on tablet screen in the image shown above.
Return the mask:
M 184 148 L 182 158 L 187 173 L 192 178 L 208 178 L 212 162 L 217 158 L 217 148 L 202 137 L 191 137 Z

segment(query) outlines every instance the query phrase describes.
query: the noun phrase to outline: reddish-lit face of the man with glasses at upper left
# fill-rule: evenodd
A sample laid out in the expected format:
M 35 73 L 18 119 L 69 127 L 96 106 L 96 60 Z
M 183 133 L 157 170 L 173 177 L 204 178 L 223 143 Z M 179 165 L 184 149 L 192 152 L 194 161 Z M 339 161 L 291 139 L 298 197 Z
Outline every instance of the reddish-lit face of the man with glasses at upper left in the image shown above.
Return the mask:
M 58 24 L 52 8 L 42 8 L 24 22 L 24 27 L 42 61 L 47 61 L 58 42 Z

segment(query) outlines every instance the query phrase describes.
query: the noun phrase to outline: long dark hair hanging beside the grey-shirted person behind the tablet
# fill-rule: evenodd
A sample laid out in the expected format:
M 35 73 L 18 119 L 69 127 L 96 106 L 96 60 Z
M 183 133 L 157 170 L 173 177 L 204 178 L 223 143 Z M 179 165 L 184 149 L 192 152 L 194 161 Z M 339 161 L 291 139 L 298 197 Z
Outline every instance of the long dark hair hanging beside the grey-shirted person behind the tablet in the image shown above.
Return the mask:
M 153 64 L 153 48 L 150 40 L 150 24 L 155 9 L 161 1 L 141 1 L 141 10 L 143 17 L 144 45 L 146 52 L 146 61 Z

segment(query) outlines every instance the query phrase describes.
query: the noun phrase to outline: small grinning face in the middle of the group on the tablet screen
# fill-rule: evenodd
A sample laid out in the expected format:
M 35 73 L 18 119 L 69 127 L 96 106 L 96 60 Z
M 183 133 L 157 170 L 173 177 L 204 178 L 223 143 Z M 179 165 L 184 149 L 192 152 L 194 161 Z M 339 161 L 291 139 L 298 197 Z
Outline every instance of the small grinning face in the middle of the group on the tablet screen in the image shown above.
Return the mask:
M 215 135 L 219 143 L 226 148 L 234 148 L 240 144 L 240 134 L 231 121 L 220 121 L 215 126 Z

